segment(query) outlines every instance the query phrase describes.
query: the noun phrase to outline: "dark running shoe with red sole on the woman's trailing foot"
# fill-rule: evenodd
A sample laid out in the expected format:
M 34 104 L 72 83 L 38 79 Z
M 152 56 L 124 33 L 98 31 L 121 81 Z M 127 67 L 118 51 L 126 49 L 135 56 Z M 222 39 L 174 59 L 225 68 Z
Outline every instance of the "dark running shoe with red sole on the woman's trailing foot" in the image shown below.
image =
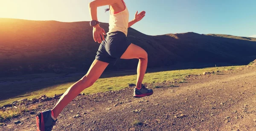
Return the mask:
M 53 125 L 56 124 L 56 120 L 51 117 L 52 110 L 39 112 L 36 116 L 37 131 L 52 131 Z

